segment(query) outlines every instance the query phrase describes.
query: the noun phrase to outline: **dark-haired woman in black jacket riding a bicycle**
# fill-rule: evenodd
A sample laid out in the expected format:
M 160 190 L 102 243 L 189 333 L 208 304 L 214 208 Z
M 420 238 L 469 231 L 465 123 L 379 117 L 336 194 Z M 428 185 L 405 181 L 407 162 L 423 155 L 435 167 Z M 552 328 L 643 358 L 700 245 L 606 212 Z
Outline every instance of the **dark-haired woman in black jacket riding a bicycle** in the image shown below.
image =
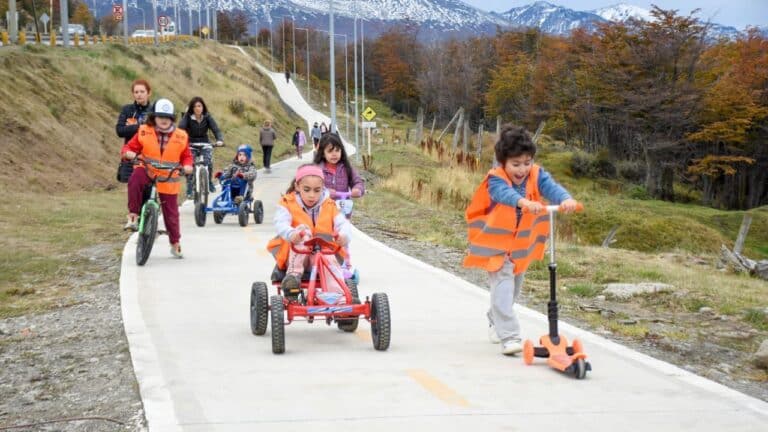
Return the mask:
M 213 119 L 211 113 L 208 112 L 208 107 L 205 105 L 205 101 L 200 96 L 195 96 L 189 101 L 187 105 L 187 112 L 179 122 L 179 129 L 184 129 L 189 135 L 189 144 L 192 149 L 192 156 L 195 158 L 200 150 L 195 149 L 192 144 L 194 143 L 207 143 L 210 142 L 208 137 L 208 131 L 213 132 L 216 138 L 216 146 L 220 147 L 224 145 L 224 136 L 221 134 L 219 125 L 216 124 L 216 120 Z M 210 149 L 203 151 L 203 157 L 208 165 L 208 188 L 211 192 L 215 192 L 216 188 L 211 182 L 211 173 L 213 173 L 213 152 Z M 194 177 L 193 175 L 187 176 L 187 199 L 192 198 Z

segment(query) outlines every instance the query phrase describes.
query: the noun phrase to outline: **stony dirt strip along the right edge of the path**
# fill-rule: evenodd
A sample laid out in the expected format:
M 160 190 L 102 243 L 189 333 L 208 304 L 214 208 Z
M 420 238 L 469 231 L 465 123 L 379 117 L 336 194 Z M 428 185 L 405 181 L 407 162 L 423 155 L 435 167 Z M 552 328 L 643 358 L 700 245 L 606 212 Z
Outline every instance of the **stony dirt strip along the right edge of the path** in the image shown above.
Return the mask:
M 463 250 L 420 242 L 411 236 L 393 232 L 391 224 L 356 210 L 354 224 L 371 237 L 393 249 L 486 288 L 485 272 L 461 267 Z M 527 281 L 521 304 L 546 313 L 548 285 L 546 281 Z M 672 294 L 674 295 L 674 294 Z M 680 295 L 678 293 L 678 295 Z M 627 317 L 621 325 L 642 325 L 640 339 L 622 337 L 601 324 L 585 319 L 585 314 L 601 317 Z M 603 337 L 626 345 L 651 357 L 675 364 L 697 375 L 716 381 L 755 398 L 768 401 L 766 371 L 751 364 L 751 353 L 740 350 L 741 342 L 758 336 L 737 316 L 712 313 L 659 314 L 641 307 L 641 303 L 610 299 L 561 300 L 560 315 L 566 321 Z M 483 317 L 478 317 L 482 322 Z M 695 335 L 681 341 L 666 335 Z

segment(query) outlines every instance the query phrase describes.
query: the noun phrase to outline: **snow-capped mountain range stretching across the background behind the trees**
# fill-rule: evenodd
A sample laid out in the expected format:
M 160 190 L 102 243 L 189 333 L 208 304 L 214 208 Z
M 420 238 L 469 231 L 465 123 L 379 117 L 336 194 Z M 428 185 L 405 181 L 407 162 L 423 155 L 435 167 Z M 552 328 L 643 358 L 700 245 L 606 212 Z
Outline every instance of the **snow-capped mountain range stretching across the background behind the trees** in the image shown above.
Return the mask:
M 2 0 L 0 0 L 2 1 Z M 100 16 L 111 13 L 112 0 L 97 0 Z M 556 0 L 553 0 L 556 1 Z M 146 12 L 151 23 L 151 0 L 129 0 Z M 172 15 L 174 0 L 159 0 L 159 14 Z M 328 0 L 178 0 L 181 30 L 186 32 L 192 8 L 192 25 L 196 28 L 198 5 L 202 7 L 205 20 L 205 5 L 218 4 L 220 10 L 244 10 L 251 16 L 251 29 L 256 34 L 272 22 L 278 26 L 283 20 L 295 19 L 298 27 L 328 28 Z M 599 22 L 624 22 L 629 18 L 652 20 L 650 11 L 626 3 L 619 3 L 592 11 L 576 11 L 545 1 L 512 8 L 504 13 L 485 12 L 469 6 L 461 0 L 333 0 L 336 16 L 336 33 L 351 36 L 354 16 L 366 20 L 366 36 L 375 36 L 393 25 L 411 22 L 419 27 L 423 39 L 464 37 L 468 35 L 493 34 L 497 28 L 535 27 L 551 34 L 567 35 L 575 28 L 592 30 Z M 129 7 L 129 24 L 141 24 L 143 17 Z M 733 27 L 712 24 L 710 35 L 714 38 L 733 38 L 739 35 Z

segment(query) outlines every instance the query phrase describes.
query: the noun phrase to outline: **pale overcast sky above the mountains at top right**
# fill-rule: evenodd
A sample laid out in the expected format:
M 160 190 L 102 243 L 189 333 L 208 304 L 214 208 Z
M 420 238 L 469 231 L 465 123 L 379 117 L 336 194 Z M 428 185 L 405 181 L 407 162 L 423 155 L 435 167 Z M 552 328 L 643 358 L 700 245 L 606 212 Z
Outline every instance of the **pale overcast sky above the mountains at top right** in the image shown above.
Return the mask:
M 463 0 L 476 8 L 486 11 L 506 12 L 513 7 L 534 3 L 536 0 Z M 729 25 L 741 30 L 747 25 L 768 24 L 768 0 L 548 0 L 549 3 L 574 10 L 591 10 L 617 3 L 626 3 L 651 9 L 655 4 L 662 9 L 677 9 L 688 14 L 701 9 L 699 17 L 704 20 Z

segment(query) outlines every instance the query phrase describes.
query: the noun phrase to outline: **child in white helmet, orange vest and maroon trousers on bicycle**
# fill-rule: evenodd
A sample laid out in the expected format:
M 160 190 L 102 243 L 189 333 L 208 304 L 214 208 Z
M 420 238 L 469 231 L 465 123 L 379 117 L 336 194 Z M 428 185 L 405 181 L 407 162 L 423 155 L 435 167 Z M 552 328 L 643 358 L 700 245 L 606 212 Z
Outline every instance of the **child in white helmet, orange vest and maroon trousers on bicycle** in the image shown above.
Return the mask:
M 136 155 L 143 155 L 146 159 L 155 159 L 164 163 L 178 163 L 184 167 L 184 174 L 192 174 L 192 153 L 189 150 L 189 138 L 183 130 L 176 129 L 174 120 L 173 103 L 168 99 L 160 99 L 155 103 L 154 110 L 149 114 L 147 123 L 139 126 L 136 135 L 133 136 L 122 149 L 124 159 L 132 160 Z M 144 189 L 149 185 L 148 172 L 155 176 L 165 177 L 165 170 L 156 170 L 151 167 L 137 167 L 133 170 L 128 180 L 128 223 L 127 230 L 136 230 L 136 223 L 141 206 L 144 201 Z M 163 209 L 163 221 L 168 231 L 171 242 L 171 255 L 182 258 L 181 254 L 181 230 L 179 226 L 178 195 L 181 183 L 178 179 L 178 171 L 173 174 L 176 177 L 171 182 L 157 183 L 160 206 Z

